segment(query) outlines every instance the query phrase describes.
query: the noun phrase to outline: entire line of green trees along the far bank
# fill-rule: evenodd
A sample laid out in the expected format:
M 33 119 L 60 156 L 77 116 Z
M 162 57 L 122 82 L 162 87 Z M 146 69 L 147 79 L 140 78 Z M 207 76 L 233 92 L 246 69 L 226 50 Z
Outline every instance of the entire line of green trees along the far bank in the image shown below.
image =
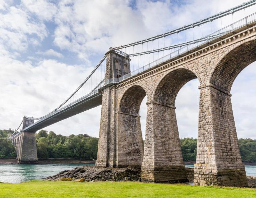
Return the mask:
M 12 141 L 9 137 L 13 130 L 0 130 L 0 158 L 15 157 Z M 2 139 L 1 139 L 2 138 Z M 196 161 L 197 139 L 180 139 L 184 161 Z M 256 162 L 256 140 L 239 139 L 239 148 L 243 162 Z M 98 138 L 86 134 L 62 136 L 53 131 L 40 130 L 36 133 L 37 156 L 48 158 L 97 159 Z

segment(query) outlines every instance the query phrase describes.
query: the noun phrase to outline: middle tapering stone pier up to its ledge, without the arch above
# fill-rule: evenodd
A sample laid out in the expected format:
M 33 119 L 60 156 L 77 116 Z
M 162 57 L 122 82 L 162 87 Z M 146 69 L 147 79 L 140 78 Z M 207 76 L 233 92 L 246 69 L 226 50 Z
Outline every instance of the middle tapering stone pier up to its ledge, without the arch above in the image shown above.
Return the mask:
M 174 107 L 147 104 L 141 179 L 146 182 L 187 181 Z

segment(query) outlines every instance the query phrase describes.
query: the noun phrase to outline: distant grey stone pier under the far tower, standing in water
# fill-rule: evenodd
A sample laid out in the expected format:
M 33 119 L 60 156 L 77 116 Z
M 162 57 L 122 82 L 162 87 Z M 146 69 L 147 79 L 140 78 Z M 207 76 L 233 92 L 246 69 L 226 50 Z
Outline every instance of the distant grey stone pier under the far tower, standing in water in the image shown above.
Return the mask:
M 22 131 L 18 163 L 35 164 L 38 162 L 35 133 Z

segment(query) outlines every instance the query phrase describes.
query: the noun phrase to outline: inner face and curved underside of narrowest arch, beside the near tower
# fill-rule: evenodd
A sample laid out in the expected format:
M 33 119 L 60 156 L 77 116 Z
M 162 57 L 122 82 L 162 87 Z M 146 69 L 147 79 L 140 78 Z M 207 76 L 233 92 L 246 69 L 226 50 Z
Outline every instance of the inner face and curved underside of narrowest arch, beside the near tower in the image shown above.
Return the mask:
M 117 167 L 141 166 L 143 160 L 143 139 L 139 109 L 146 91 L 133 85 L 122 95 L 117 112 Z

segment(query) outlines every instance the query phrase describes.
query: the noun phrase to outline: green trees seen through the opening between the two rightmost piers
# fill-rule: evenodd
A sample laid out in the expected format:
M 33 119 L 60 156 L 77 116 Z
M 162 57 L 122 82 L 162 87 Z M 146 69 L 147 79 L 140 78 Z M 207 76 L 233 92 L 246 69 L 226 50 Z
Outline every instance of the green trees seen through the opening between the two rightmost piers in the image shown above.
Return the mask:
M 180 139 L 183 161 L 196 161 L 197 139 Z

